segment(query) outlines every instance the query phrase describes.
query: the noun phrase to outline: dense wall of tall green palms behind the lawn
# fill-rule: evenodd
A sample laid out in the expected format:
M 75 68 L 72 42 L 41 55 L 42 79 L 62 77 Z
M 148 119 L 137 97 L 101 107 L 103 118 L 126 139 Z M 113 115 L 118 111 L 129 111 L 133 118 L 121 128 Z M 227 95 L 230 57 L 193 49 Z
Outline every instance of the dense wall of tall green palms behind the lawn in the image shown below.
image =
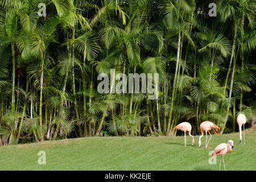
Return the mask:
M 237 113 L 255 117 L 255 13 L 251 0 L 0 0 L 0 144 L 168 136 L 184 121 L 236 131 Z M 158 73 L 158 99 L 98 93 L 110 69 Z

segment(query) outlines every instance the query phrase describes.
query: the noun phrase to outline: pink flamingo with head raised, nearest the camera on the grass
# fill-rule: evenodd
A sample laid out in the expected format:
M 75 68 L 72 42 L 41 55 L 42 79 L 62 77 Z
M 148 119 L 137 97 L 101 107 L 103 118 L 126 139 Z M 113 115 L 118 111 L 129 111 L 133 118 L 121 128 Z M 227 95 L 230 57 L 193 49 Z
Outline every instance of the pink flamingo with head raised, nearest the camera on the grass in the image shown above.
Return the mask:
M 228 140 L 228 143 L 221 143 L 221 144 L 219 144 L 219 145 L 214 149 L 214 151 L 212 152 L 212 155 L 210 155 L 210 158 L 211 158 L 213 155 L 220 155 L 221 158 L 222 158 L 222 161 L 223 161 L 224 169 L 225 169 L 225 171 L 226 171 L 225 162 L 224 162 L 224 155 L 225 155 L 226 153 L 232 152 L 232 148 L 233 148 L 233 147 L 234 147 L 233 140 Z M 220 159 L 220 169 L 221 169 L 221 159 Z

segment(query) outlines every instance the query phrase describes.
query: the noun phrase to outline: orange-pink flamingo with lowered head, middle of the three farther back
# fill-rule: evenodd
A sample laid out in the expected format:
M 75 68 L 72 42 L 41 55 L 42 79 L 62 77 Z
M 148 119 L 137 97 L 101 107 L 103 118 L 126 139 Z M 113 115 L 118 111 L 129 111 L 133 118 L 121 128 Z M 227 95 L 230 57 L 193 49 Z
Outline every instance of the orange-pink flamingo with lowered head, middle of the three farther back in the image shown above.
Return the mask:
M 201 123 L 200 125 L 200 130 L 201 130 L 201 136 L 199 137 L 199 147 L 201 147 L 201 138 L 204 137 L 204 131 L 205 131 L 205 135 L 206 135 L 206 140 L 205 140 L 205 147 L 208 147 L 208 144 L 210 142 L 210 139 L 212 138 L 212 135 L 210 134 L 209 130 L 214 130 L 214 133 L 218 133 L 218 131 L 216 129 L 220 130 L 220 127 L 218 127 L 217 125 L 214 125 L 212 122 L 209 121 L 204 121 Z M 207 142 L 207 132 L 210 134 L 210 139 Z

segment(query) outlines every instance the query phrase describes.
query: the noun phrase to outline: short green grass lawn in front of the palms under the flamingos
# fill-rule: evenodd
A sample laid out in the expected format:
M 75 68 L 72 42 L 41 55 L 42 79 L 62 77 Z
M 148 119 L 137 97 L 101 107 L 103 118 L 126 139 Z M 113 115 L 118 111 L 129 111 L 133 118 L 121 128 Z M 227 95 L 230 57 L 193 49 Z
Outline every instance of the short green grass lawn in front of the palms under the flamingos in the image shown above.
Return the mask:
M 218 170 L 208 163 L 209 152 L 229 139 L 233 151 L 226 154 L 227 170 L 256 169 L 256 134 L 246 130 L 246 144 L 239 134 L 213 135 L 209 148 L 195 146 L 187 137 L 88 137 L 0 146 L 0 170 Z M 202 146 L 205 145 L 205 137 Z M 38 152 L 46 152 L 46 165 L 38 164 Z

